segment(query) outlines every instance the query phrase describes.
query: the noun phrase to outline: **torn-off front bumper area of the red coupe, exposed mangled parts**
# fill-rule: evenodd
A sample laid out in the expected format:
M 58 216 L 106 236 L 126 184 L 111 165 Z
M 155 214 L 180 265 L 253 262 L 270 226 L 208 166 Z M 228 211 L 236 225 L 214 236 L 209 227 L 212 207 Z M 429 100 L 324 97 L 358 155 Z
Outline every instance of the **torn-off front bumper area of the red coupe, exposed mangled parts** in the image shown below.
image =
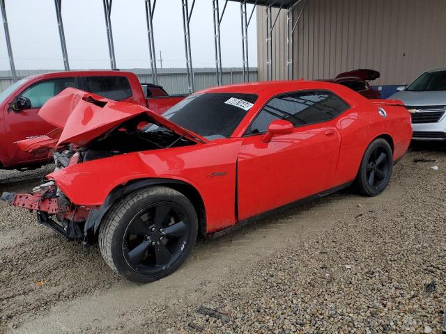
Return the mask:
M 39 188 L 33 193 L 3 192 L 1 200 L 15 207 L 36 211 L 38 223 L 68 239 L 85 239 L 82 225 L 89 215 L 89 209 L 72 205 L 63 194 L 57 193 L 54 185 Z

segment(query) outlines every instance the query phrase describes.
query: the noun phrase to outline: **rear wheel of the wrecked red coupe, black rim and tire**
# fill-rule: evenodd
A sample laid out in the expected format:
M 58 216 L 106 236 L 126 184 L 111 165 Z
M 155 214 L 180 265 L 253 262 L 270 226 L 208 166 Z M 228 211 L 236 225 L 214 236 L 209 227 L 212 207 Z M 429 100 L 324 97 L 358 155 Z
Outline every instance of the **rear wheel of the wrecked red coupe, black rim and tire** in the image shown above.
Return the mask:
M 362 157 L 355 180 L 357 190 L 364 196 L 377 196 L 384 191 L 392 176 L 392 148 L 383 138 L 371 142 Z

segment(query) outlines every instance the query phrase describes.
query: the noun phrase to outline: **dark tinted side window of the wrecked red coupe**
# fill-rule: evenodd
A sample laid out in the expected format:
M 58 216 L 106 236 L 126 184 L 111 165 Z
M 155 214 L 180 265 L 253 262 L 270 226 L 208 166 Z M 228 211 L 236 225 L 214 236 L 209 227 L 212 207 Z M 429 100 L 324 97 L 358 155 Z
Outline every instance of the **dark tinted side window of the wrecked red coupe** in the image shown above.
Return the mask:
M 246 134 L 267 132 L 273 120 L 289 120 L 295 127 L 327 122 L 348 108 L 346 102 L 325 90 L 280 95 L 263 107 Z

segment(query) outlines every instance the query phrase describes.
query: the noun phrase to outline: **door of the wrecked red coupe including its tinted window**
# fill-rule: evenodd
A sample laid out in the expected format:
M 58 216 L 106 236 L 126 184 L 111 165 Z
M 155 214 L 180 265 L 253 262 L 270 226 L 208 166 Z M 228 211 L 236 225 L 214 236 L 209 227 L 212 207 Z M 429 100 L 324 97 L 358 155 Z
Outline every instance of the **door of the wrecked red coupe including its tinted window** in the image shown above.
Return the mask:
M 238 155 L 238 218 L 321 193 L 335 184 L 341 138 L 336 118 L 348 109 L 328 91 L 273 97 L 256 116 Z M 262 141 L 272 120 L 295 125 L 293 133 Z

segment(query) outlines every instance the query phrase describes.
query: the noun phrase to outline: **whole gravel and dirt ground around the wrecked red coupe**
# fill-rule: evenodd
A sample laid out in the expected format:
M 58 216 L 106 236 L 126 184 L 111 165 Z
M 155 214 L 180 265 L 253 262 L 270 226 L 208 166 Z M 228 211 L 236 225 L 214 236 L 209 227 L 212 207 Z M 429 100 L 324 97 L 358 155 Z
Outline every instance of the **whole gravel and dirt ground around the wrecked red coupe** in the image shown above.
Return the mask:
M 380 196 L 329 196 L 202 241 L 180 271 L 139 287 L 97 247 L 2 205 L 0 332 L 442 333 L 445 190 L 445 145 L 416 145 Z

